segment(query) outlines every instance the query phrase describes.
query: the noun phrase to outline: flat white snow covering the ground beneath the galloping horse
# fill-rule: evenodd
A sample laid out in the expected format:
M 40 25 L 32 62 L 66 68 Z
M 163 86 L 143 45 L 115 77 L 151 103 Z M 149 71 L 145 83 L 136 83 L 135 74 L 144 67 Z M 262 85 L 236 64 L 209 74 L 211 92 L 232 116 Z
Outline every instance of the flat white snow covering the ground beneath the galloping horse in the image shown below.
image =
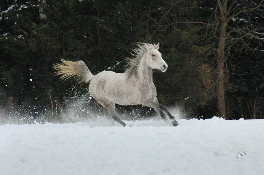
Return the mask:
M 1 174 L 263 174 L 264 120 L 0 125 Z M 246 153 L 236 161 L 238 153 Z M 239 154 L 240 154 L 239 153 Z

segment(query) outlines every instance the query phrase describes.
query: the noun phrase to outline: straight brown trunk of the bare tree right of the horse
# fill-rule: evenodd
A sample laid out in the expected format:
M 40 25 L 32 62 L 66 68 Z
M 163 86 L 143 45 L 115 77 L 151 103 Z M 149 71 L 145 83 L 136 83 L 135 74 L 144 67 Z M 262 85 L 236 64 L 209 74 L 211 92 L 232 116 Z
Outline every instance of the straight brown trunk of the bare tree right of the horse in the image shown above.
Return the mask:
M 216 84 L 216 98 L 217 98 L 217 109 L 218 116 L 226 119 L 225 115 L 225 95 L 224 95 L 224 62 L 225 62 L 225 40 L 227 35 L 227 1 L 218 0 L 218 6 L 221 13 L 220 23 L 220 35 L 218 42 L 218 65 L 217 74 L 218 81 Z

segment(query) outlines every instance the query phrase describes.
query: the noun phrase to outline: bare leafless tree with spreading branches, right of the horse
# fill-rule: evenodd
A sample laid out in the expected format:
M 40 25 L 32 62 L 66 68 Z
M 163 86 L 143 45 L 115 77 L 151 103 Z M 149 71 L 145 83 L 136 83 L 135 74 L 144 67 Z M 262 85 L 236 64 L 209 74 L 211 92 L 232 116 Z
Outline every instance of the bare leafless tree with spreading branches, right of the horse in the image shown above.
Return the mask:
M 180 0 L 168 1 L 163 7 L 153 11 L 156 16 L 152 19 L 158 25 L 156 31 L 162 31 L 167 26 L 175 27 L 175 24 L 199 25 L 199 30 L 206 29 L 202 37 L 207 37 L 216 47 L 211 47 L 211 50 L 204 54 L 215 55 L 214 61 L 210 64 L 213 65 L 216 75 L 214 85 L 218 116 L 224 119 L 226 119 L 225 83 L 228 83 L 228 63 L 232 62 L 230 50 L 232 48 L 239 53 L 246 53 L 261 48 L 264 40 L 263 7 L 264 0 L 256 2 L 247 0 Z M 194 11 L 201 10 L 206 11 L 209 16 L 207 18 L 199 15 L 197 15 L 198 18 L 188 16 L 195 13 Z M 184 16 L 184 14 L 187 15 Z M 252 45 L 252 43 L 254 44 Z

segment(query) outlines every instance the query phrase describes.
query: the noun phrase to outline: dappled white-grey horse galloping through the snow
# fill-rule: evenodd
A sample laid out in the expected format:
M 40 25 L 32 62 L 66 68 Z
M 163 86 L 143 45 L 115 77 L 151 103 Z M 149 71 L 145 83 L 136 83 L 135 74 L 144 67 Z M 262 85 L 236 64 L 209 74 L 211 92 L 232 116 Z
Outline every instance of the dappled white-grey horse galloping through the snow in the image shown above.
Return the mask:
M 126 58 L 128 64 L 123 74 L 112 71 L 103 71 L 93 75 L 83 61 L 65 61 L 53 67 L 58 71 L 56 75 L 62 75 L 60 79 L 68 79 L 77 76 L 81 82 L 90 82 L 89 92 L 106 110 L 112 118 L 123 126 L 126 124 L 115 112 L 115 103 L 119 105 L 143 105 L 154 108 L 161 118 L 167 121 L 162 112 L 165 111 L 171 119 L 172 125 L 177 126 L 178 122 L 169 113 L 166 106 L 159 104 L 156 97 L 156 87 L 152 81 L 152 69 L 159 69 L 165 72 L 168 68 L 158 51 L 159 43 L 138 43 L 138 48 L 132 49 L 135 58 Z

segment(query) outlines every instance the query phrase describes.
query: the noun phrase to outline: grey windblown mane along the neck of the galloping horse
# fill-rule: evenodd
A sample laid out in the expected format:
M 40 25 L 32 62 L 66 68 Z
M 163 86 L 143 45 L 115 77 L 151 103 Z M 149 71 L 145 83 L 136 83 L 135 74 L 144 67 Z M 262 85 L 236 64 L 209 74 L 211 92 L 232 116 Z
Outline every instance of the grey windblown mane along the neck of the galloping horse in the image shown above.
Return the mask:
M 126 69 L 125 69 L 125 74 L 128 76 L 128 79 L 131 78 L 133 75 L 138 78 L 138 69 L 139 69 L 139 64 L 140 61 L 143 57 L 143 55 L 145 54 L 145 52 L 147 51 L 146 45 L 149 46 L 150 48 L 154 48 L 157 49 L 156 45 L 152 45 L 150 43 L 136 43 L 139 47 L 138 48 L 133 48 L 131 49 L 133 52 L 135 52 L 135 54 L 131 53 L 130 51 L 129 54 L 134 56 L 135 58 L 128 58 L 125 57 L 126 60 Z

